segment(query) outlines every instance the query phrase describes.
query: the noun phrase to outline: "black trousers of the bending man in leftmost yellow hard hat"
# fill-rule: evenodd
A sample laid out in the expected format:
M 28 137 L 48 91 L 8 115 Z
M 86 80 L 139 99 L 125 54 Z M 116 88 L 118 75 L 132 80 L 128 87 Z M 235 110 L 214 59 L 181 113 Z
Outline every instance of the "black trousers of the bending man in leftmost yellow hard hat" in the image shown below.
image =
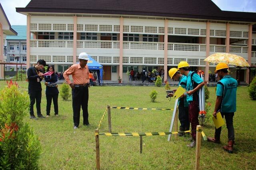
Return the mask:
M 188 107 L 184 107 L 184 104 L 183 104 L 183 105 L 179 105 L 178 109 L 179 109 L 178 117 L 180 120 L 180 127 L 184 128 L 184 130 L 189 130 L 190 122 L 188 119 Z

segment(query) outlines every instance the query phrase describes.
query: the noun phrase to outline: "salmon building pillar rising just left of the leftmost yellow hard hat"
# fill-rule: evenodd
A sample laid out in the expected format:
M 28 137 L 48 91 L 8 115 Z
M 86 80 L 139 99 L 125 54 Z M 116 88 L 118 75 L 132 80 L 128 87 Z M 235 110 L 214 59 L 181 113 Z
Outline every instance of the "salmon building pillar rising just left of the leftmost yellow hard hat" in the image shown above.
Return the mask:
M 167 58 L 168 58 L 168 20 L 164 21 L 164 81 L 167 81 Z

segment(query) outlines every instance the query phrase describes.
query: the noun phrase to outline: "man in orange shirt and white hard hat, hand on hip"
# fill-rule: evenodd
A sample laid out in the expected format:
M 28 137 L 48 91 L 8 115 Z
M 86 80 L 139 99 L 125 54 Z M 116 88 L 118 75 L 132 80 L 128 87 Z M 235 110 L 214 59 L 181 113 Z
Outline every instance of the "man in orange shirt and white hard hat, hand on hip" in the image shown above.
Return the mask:
M 87 53 L 80 53 L 78 56 L 79 63 L 69 67 L 63 74 L 66 82 L 72 88 L 72 107 L 74 129 L 77 129 L 80 122 L 80 109 L 83 110 L 83 124 L 88 126 L 88 88 L 90 87 L 89 69 L 87 61 L 89 60 Z M 68 75 L 72 75 L 73 83 Z

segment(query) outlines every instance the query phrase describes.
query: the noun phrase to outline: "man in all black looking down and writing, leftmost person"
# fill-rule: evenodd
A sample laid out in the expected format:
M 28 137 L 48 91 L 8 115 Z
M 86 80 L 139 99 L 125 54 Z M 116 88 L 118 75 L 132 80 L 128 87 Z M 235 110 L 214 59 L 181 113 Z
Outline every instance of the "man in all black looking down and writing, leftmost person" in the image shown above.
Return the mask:
M 42 98 L 42 86 L 41 81 L 43 79 L 43 73 L 40 70 L 44 69 L 46 62 L 43 59 L 37 61 L 34 67 L 30 67 L 27 71 L 28 74 L 28 94 L 30 97 L 30 119 L 36 119 L 34 115 L 34 104 L 36 101 L 36 111 L 39 118 L 44 118 L 41 114 L 41 98 Z

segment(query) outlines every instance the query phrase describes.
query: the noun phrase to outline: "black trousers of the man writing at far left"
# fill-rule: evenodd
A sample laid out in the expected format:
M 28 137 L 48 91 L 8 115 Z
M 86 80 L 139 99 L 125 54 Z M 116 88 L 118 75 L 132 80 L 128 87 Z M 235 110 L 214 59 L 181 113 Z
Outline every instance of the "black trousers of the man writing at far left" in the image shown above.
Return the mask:
M 42 91 L 28 91 L 28 95 L 30 98 L 30 107 L 29 107 L 30 115 L 34 115 L 34 104 L 35 103 L 36 103 L 37 115 L 41 115 Z

